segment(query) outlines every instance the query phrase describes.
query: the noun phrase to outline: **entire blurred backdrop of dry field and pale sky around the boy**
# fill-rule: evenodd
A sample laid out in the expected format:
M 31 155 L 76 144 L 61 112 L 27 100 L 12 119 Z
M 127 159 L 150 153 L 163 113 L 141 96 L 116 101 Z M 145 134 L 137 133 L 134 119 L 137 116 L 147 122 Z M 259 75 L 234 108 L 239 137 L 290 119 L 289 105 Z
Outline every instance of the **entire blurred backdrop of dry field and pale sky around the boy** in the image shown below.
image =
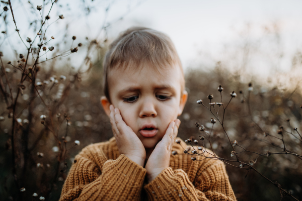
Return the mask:
M 209 107 L 207 95 L 213 94 L 213 101 L 221 102 L 221 84 L 226 105 L 235 91 L 224 123 L 231 141 L 265 154 L 254 167 L 302 200 L 302 157 L 266 154 L 283 150 L 277 139 L 277 130 L 283 128 L 286 150 L 302 155 L 300 1 L 20 0 L 11 6 L 0 3 L 4 200 L 28 200 L 34 192 L 36 199 L 58 200 L 74 156 L 113 136 L 100 105 L 102 61 L 110 42 L 131 26 L 166 33 L 178 51 L 189 92 L 178 136 L 207 137 L 209 133 L 200 133 L 195 122 L 209 131 L 213 116 L 196 101 L 203 99 Z M 22 76 L 24 69 L 27 76 Z M 232 159 L 233 149 L 221 126 L 215 124 L 211 135 L 214 151 Z M 204 146 L 210 148 L 207 140 Z M 257 154 L 243 152 L 240 158 L 248 163 Z M 226 169 L 238 200 L 283 197 L 278 187 L 253 170 L 230 165 Z M 22 187 L 26 190 L 21 192 Z

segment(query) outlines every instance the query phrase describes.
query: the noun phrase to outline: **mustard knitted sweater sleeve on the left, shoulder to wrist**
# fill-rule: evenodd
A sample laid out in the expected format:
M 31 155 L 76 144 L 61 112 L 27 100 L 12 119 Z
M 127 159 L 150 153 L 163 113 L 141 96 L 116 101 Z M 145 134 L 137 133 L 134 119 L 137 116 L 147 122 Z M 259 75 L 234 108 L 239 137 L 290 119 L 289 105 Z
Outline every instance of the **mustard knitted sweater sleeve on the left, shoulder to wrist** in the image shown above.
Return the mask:
M 63 185 L 63 200 L 139 200 L 146 170 L 124 154 L 102 167 L 87 157 L 75 157 Z

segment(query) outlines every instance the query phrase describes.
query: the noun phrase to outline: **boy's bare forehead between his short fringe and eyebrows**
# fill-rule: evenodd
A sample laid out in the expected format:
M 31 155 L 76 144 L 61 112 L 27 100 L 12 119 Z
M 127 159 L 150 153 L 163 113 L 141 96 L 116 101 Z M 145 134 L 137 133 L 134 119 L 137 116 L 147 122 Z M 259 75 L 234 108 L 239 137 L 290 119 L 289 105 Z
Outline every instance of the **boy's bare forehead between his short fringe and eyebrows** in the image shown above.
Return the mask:
M 108 73 L 109 91 L 120 90 L 126 87 L 156 87 L 167 86 L 175 89 L 181 88 L 182 71 L 177 64 L 156 68 L 149 64 L 138 67 L 116 67 Z

